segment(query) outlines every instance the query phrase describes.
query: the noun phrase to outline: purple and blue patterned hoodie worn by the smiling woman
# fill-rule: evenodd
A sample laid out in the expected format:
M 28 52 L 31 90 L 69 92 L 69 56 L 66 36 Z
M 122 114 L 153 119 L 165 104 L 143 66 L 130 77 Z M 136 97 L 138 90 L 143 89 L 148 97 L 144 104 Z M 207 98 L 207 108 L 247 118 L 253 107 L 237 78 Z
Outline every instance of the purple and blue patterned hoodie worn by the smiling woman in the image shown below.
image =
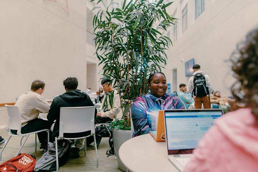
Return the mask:
M 177 97 L 165 93 L 157 98 L 151 93 L 137 97 L 132 105 L 132 122 L 134 134 L 132 137 L 157 131 L 159 110 L 185 109 Z

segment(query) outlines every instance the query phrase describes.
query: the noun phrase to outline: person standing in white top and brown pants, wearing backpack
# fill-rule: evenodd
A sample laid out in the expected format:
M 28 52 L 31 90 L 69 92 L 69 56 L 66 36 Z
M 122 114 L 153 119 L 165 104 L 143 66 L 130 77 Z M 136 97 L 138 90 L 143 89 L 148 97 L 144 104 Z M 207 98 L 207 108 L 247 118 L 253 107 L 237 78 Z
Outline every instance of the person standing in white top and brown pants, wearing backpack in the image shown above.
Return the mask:
M 192 93 L 196 109 L 210 109 L 209 94 L 213 92 L 210 77 L 200 70 L 201 66 L 195 64 L 193 66 L 193 75 L 188 81 L 187 89 Z

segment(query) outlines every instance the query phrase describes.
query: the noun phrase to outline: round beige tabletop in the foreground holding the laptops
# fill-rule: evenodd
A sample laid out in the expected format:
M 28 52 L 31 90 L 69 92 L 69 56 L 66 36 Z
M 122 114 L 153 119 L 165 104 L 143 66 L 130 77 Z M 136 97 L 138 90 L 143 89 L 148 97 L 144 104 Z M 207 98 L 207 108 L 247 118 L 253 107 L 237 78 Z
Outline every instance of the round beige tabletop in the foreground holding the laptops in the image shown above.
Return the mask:
M 168 160 L 166 142 L 156 142 L 150 134 L 124 142 L 119 148 L 119 157 L 129 171 L 178 172 Z

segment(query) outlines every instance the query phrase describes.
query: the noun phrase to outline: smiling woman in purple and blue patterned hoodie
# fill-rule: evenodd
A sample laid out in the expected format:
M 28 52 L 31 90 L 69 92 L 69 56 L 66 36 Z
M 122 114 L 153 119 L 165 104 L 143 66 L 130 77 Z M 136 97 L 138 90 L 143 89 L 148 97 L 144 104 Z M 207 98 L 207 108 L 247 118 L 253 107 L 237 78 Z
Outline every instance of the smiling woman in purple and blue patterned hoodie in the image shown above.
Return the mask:
M 133 137 L 157 131 L 159 110 L 185 109 L 180 99 L 166 93 L 167 81 L 164 73 L 151 74 L 148 88 L 149 93 L 137 97 L 132 105 Z

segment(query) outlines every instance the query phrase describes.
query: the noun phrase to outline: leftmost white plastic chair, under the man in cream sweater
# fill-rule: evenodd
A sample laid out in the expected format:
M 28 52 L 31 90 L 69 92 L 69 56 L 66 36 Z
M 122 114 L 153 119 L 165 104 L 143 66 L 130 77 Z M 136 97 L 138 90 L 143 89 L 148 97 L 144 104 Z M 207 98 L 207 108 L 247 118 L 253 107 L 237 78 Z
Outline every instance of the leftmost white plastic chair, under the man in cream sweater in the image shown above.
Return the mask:
M 7 143 L 9 142 L 11 136 L 21 136 L 22 138 L 24 136 L 26 136 L 26 139 L 24 140 L 24 142 L 21 144 L 22 138 L 20 140 L 20 148 L 18 150 L 18 152 L 16 153 L 15 157 L 20 153 L 22 147 L 24 146 L 26 140 L 28 139 L 30 134 L 35 134 L 35 152 L 37 151 L 37 133 L 38 132 L 42 132 L 42 131 L 46 131 L 48 133 L 48 142 L 49 142 L 49 130 L 48 129 L 44 129 L 44 130 L 39 130 L 39 131 L 35 131 L 35 132 L 30 132 L 30 133 L 26 133 L 26 134 L 21 134 L 21 116 L 19 113 L 19 107 L 18 106 L 11 106 L 11 105 L 5 105 L 7 107 L 7 112 L 8 112 L 8 123 L 7 123 L 7 127 L 6 130 L 9 132 L 10 137 L 8 138 L 5 146 L 7 145 Z M 17 134 L 13 134 L 11 132 L 12 130 L 17 130 Z M 2 160 L 2 152 L 5 149 L 5 146 L 2 148 L 1 152 L 0 152 L 0 161 Z

